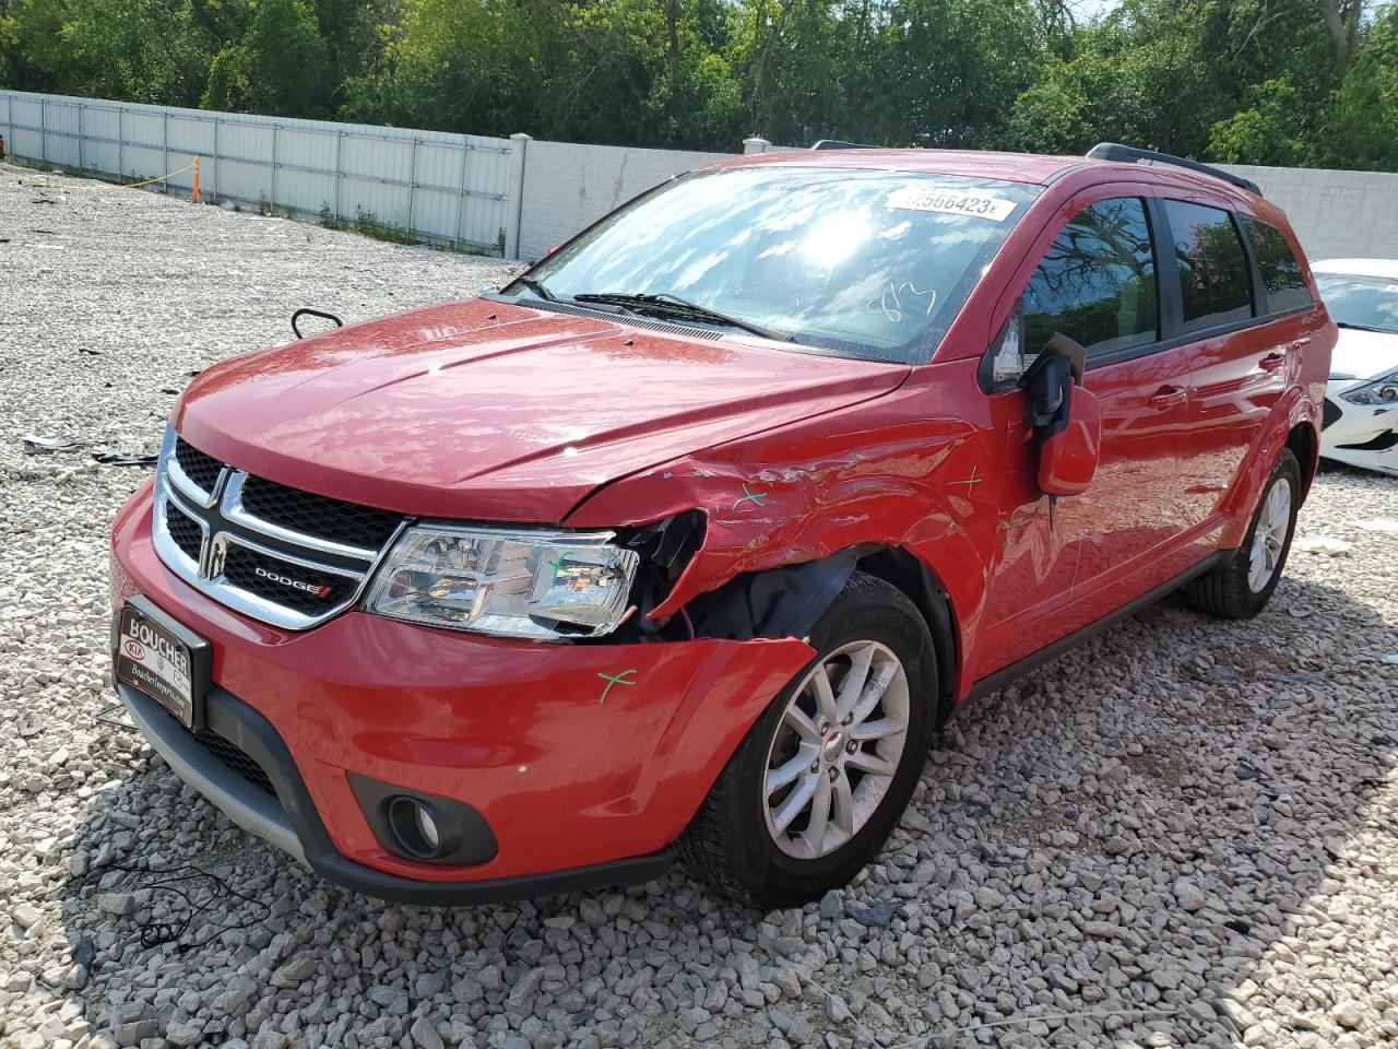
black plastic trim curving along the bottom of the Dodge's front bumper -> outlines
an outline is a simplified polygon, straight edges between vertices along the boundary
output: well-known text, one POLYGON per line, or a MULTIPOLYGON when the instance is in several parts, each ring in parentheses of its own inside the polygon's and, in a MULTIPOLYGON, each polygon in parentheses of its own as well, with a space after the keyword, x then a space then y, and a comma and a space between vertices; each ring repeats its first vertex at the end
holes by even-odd
MULTIPOLYGON (((150 699, 143 692, 136 690, 127 691, 134 695, 136 702, 148 702, 164 712, 164 708, 159 708, 154 699, 150 699)), ((123 698, 127 702, 133 702, 131 697, 123 698)), ((306 789, 306 783, 296 769, 296 762, 292 759, 291 751, 271 722, 236 695, 218 685, 214 685, 208 691, 206 716, 210 729, 240 747, 253 761, 261 765, 267 778, 271 779, 273 786, 277 789, 281 810, 295 831, 295 836, 301 842, 302 856, 310 869, 327 881, 333 881, 355 892, 362 892, 366 897, 396 904, 421 904, 426 906, 500 904, 510 899, 547 897, 577 890, 639 885, 660 877, 675 862, 674 849, 667 848, 649 856, 632 856, 587 867, 475 881, 424 881, 375 870, 362 863, 355 863, 334 848, 330 834, 326 831, 326 825, 322 822, 320 814, 310 800, 310 792, 306 789)), ((193 754, 190 748, 193 748, 199 755, 204 755, 207 761, 217 761, 207 755, 207 751, 180 725, 173 719, 166 720, 172 732, 189 737, 189 747, 183 745, 183 740, 171 738, 166 738, 166 745, 178 747, 182 757, 186 758, 190 758, 193 754)), ((187 764, 194 765, 196 771, 203 773, 199 759, 189 759, 187 764)), ((228 775, 233 773, 229 772, 228 775)), ((192 780, 190 786, 200 790, 199 782, 192 780)))

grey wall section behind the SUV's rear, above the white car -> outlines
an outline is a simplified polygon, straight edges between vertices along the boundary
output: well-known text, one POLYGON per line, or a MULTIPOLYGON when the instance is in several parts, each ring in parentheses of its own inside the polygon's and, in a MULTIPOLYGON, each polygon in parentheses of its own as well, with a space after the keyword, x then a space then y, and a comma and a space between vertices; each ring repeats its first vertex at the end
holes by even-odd
POLYGON ((1253 179, 1320 259, 1398 259, 1398 175, 1220 165, 1253 179))

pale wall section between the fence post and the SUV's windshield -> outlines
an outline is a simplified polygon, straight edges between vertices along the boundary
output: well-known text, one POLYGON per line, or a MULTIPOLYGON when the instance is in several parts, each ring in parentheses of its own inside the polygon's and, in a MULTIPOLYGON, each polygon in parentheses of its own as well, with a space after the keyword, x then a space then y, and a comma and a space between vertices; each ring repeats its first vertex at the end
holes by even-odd
POLYGON ((728 155, 530 140, 524 150, 520 257, 537 259, 637 193, 728 155))

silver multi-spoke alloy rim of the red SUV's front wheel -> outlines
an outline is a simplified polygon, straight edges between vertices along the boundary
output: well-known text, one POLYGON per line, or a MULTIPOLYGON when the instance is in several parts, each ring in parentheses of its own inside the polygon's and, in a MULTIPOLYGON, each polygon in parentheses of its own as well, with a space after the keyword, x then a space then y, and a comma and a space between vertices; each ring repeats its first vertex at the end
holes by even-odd
POLYGON ((768 750, 763 811, 788 856, 826 856, 860 832, 898 772, 909 725, 907 671, 856 641, 801 680, 768 750))

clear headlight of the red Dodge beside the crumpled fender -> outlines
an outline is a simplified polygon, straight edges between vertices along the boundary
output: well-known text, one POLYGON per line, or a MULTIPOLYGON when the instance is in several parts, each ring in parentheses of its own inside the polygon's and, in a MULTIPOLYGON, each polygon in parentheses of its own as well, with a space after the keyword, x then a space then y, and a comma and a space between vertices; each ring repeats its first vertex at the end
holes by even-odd
POLYGON ((419 524, 403 533, 365 608, 428 627, 548 641, 617 629, 640 555, 611 531, 419 524))

